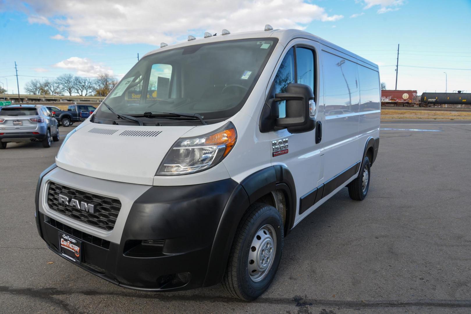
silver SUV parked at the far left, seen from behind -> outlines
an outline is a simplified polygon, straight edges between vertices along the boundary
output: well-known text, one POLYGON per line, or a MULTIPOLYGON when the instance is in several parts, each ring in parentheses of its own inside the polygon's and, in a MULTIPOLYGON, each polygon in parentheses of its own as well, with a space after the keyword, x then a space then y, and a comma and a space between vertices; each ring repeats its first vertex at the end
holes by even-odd
POLYGON ((57 120, 42 105, 10 105, 0 107, 0 149, 7 143, 39 141, 51 147, 59 140, 57 120), (51 139, 52 138, 52 139, 51 139))

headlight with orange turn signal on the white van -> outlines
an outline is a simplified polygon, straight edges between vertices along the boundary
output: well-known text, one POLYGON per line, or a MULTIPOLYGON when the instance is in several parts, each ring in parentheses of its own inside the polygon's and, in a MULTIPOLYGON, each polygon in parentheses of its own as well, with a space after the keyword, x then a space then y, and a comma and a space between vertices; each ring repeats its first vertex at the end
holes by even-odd
POLYGON ((157 175, 184 175, 214 167, 231 151, 236 139, 231 122, 202 136, 180 138, 163 159, 157 175))

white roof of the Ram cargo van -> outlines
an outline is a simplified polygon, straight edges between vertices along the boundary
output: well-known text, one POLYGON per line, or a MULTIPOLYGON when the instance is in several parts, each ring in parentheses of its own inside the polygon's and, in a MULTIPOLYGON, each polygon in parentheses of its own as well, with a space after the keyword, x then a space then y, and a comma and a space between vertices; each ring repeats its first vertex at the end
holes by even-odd
MULTIPOLYGON (((283 46, 286 46, 288 42, 295 38, 305 38, 309 40, 314 40, 317 41, 325 46, 328 46, 330 48, 333 48, 335 50, 338 50, 346 55, 349 55, 353 58, 356 58, 360 61, 363 61, 367 64, 370 64, 374 66, 376 69, 378 69, 378 65, 374 64, 373 62, 358 56, 344 48, 341 48, 325 39, 322 39, 316 35, 313 35, 309 32, 305 31, 300 31, 296 29, 287 29, 287 30, 271 30, 271 31, 253 31, 253 32, 237 32, 237 33, 230 33, 227 35, 217 35, 217 36, 212 36, 212 37, 207 37, 207 38, 198 38, 196 40, 189 40, 189 41, 184 41, 180 42, 177 44, 165 46, 162 48, 157 48, 154 49, 148 53, 146 53, 145 56, 152 55, 154 53, 160 52, 160 51, 165 51, 173 48, 181 48, 181 47, 187 47, 187 46, 192 46, 192 45, 198 45, 198 44, 203 44, 203 43, 209 43, 209 42, 217 42, 217 41, 224 41, 224 40, 237 40, 237 39, 250 39, 250 38, 277 38, 278 43, 281 43, 283 46)), ((144 57, 145 57, 144 56, 144 57)))

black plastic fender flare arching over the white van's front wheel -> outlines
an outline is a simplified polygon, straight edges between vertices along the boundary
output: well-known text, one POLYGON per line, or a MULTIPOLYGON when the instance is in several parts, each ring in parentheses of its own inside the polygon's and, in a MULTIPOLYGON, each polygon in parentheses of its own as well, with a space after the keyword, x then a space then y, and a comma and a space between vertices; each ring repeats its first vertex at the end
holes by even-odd
POLYGON ((235 232, 245 211, 260 197, 275 190, 285 194, 285 235, 292 228, 296 215, 296 189, 289 169, 284 165, 274 165, 252 173, 235 187, 227 200, 214 236, 203 287, 222 281, 235 232))

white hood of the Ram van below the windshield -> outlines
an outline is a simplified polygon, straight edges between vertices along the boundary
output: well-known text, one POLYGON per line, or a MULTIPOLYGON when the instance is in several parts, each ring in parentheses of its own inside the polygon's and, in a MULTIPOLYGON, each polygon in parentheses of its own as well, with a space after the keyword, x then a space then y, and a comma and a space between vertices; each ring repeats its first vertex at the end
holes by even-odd
POLYGON ((56 164, 89 177, 152 185, 171 146, 193 128, 89 122, 77 127, 67 139, 57 153, 56 164))

